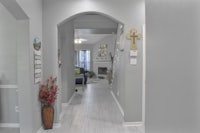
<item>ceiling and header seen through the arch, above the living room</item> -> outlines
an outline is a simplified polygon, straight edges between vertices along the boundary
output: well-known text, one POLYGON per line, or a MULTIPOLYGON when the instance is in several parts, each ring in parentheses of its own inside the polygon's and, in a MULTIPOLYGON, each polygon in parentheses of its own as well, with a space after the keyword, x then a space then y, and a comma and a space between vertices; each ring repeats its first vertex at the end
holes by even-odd
POLYGON ((82 44, 96 44, 103 38, 117 33, 118 23, 102 15, 89 14, 74 20, 75 39, 85 39, 82 44))

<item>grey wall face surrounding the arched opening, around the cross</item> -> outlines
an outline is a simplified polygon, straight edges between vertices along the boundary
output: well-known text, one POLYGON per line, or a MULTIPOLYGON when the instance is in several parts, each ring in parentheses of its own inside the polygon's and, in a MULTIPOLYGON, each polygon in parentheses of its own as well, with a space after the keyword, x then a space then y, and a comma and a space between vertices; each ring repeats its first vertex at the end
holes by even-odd
MULTIPOLYGON (((144 1, 130 1, 130 2, 121 2, 116 1, 116 4, 113 2, 101 2, 97 1, 81 1, 81 2, 71 2, 67 1, 62 2, 44 2, 44 40, 43 45, 44 49, 44 78, 48 77, 49 74, 54 74, 58 76, 58 72, 61 70, 58 68, 58 62, 51 60, 57 60, 57 51, 59 42, 59 25, 64 22, 73 19, 72 16, 76 16, 88 13, 88 12, 97 12, 102 14, 107 14, 108 16, 116 18, 123 22, 124 32, 122 36, 126 36, 132 28, 136 28, 139 33, 142 33, 142 25, 145 23, 145 10, 144 10, 144 1), (101 4, 100 4, 101 3, 101 4), (128 7, 127 7, 128 5, 128 7), (119 9, 125 9, 123 11, 119 9), (55 16, 55 19, 52 17, 55 16), (67 18, 67 19, 66 19, 67 18)), ((106 15, 106 16, 107 16, 106 15)), ((114 19, 115 20, 115 19, 114 19)), ((72 31, 74 32, 74 31, 72 31)), ((73 38, 73 36, 70 36, 73 38)), ((72 39, 71 42, 74 40, 72 39)), ((142 121, 142 39, 137 41, 138 45, 138 62, 136 65, 130 64, 130 40, 126 38, 124 41, 120 42, 120 46, 124 46, 124 51, 119 52, 119 71, 117 71, 118 77, 117 80, 117 89, 114 91, 116 99, 120 101, 120 105, 124 111, 124 121, 125 122, 141 122, 142 121), (119 91, 118 91, 119 90, 119 91)), ((120 49, 121 50, 121 49, 120 49)), ((73 63, 73 57, 71 62, 73 63)), ((62 66, 61 66, 62 67, 62 66)), ((73 65, 71 66, 73 68, 73 65)), ((71 71, 74 71, 71 69, 71 71)), ((60 72, 61 73, 61 72, 60 72)), ((59 77, 59 76, 58 76, 59 77)), ((113 83, 114 85, 114 83, 113 83)), ((61 88, 62 89, 62 88, 61 88)), ((69 93, 68 93, 69 94, 69 93)), ((70 94, 72 95, 72 94, 70 94)), ((58 97, 58 107, 56 110, 58 113, 61 113, 61 93, 58 97)), ((56 121, 59 123, 59 116, 56 116, 56 121)))

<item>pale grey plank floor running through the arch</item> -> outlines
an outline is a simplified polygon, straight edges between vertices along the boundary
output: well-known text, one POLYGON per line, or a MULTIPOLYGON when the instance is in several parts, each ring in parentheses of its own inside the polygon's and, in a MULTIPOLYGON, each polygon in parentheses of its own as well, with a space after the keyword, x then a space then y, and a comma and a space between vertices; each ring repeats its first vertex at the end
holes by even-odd
POLYGON ((123 117, 106 80, 87 84, 76 92, 64 115, 60 128, 43 133, 142 133, 141 127, 123 126, 123 117))

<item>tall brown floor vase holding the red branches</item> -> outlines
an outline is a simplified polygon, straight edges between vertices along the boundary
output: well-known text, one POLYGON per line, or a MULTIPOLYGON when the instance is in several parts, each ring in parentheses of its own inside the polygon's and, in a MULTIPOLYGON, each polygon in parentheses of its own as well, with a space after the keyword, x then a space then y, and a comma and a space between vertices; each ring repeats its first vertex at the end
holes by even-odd
POLYGON ((52 106, 42 106, 42 123, 45 130, 53 128, 54 108, 52 106))

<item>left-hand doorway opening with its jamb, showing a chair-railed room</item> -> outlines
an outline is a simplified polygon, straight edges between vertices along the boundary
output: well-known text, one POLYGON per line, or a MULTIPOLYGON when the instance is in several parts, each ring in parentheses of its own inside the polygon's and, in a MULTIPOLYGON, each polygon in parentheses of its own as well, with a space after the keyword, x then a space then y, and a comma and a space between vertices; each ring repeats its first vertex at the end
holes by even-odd
POLYGON ((1 1, 0 132, 24 133, 32 129, 32 87, 29 18, 14 1, 1 1), (15 7, 11 10, 9 7, 15 7), (11 69, 11 70, 10 70, 11 69), (1 89, 6 89, 1 92, 1 89), (26 100, 24 100, 26 99, 26 100))

